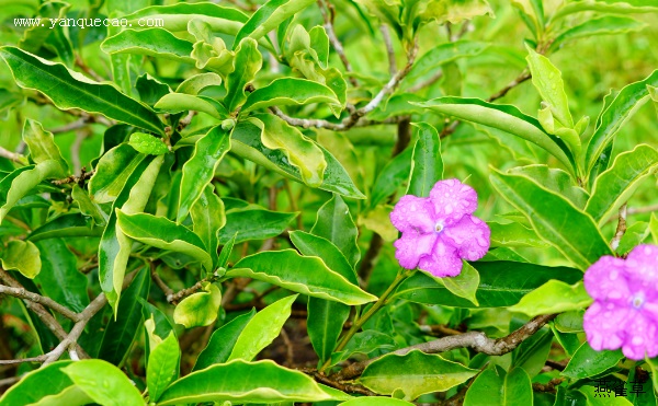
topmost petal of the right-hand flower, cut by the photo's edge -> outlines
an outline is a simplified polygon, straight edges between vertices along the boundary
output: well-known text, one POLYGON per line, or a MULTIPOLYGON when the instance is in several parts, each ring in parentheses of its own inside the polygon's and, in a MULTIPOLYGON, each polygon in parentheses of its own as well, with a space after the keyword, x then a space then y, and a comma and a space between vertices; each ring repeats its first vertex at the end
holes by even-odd
POLYGON ((644 291, 647 299, 658 299, 658 246, 638 245, 626 258, 631 289, 644 291))

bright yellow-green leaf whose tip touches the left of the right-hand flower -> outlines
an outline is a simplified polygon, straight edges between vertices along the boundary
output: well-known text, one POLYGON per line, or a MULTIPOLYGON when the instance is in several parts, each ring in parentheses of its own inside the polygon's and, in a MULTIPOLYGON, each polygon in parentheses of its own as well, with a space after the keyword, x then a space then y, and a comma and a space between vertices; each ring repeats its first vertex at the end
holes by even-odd
POLYGON ((508 310, 534 317, 540 314, 582 310, 591 303, 592 299, 587 294, 582 282, 569 286, 559 280, 549 280, 508 310))

